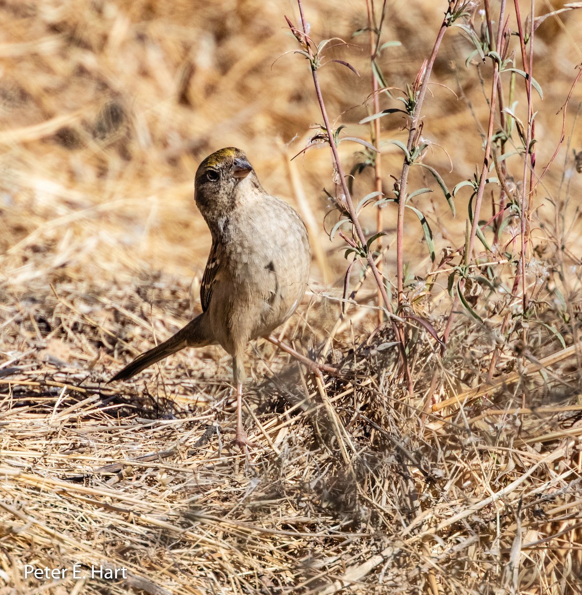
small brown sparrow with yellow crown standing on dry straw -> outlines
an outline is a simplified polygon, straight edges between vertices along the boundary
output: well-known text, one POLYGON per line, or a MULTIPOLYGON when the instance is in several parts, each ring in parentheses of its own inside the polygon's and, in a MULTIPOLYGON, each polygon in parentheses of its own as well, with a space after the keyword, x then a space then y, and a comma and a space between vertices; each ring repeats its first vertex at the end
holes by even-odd
POLYGON ((305 293, 311 250, 301 217, 265 192, 240 149, 220 149, 202 161, 195 199, 212 234, 200 288, 202 314, 110 382, 130 378, 184 347, 219 343, 233 358, 235 441, 242 447, 248 444, 241 411, 245 347, 295 312, 305 293))

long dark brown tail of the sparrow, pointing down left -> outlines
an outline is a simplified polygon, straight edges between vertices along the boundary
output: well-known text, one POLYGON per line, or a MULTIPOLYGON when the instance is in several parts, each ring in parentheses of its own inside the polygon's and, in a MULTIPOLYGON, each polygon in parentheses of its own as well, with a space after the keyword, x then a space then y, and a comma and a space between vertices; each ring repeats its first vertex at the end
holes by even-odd
POLYGON ((160 343, 157 347, 137 356, 131 364, 126 365, 125 368, 117 372, 117 374, 108 381, 108 384, 115 380, 126 380, 126 378, 131 378, 148 366, 155 364, 155 362, 159 362, 160 359, 164 359, 172 353, 180 351, 180 349, 184 349, 184 347, 204 347, 210 343, 212 343, 212 341, 208 338, 205 316, 204 314, 201 314, 190 321, 176 334, 171 336, 170 339, 164 341, 164 343, 160 343))

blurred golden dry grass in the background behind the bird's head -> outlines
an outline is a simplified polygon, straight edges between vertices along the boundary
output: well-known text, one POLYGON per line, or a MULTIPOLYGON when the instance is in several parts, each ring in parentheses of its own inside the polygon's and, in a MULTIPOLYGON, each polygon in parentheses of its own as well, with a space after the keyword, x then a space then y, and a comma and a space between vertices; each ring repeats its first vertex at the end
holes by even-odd
MULTIPOLYGON (((527 3, 522 4, 526 14, 527 3)), ((539 10, 561 4, 540 2, 539 10)), ((384 37, 402 42, 383 54, 390 86, 403 88, 414 80, 445 8, 439 2, 389 2, 384 37)), ((317 132, 309 127, 321 115, 308 64, 299 55, 283 55, 296 47, 283 19, 287 14, 297 21, 293 2, 8 0, 0 14, 0 275, 5 289, 46 288, 54 275, 97 284, 130 283, 139 271, 199 275, 210 239, 193 204, 193 173, 205 155, 222 146, 245 150, 265 188, 296 204, 285 162, 317 132)), ((357 124, 368 113, 367 35, 351 39, 365 27, 365 4, 320 0, 306 4, 306 14, 316 39, 339 36, 354 44, 332 50, 330 57, 351 62, 361 78, 339 64, 323 68, 320 76, 336 125, 348 124, 349 134, 368 138, 367 126, 357 124)), ((543 102, 536 98, 540 165, 559 140, 562 115, 556 112, 582 60, 581 24, 581 14, 571 11, 549 18, 536 32, 535 76, 545 92, 543 102)), ((450 184, 473 175, 488 115, 488 92, 464 64, 469 52, 461 33, 451 30, 425 104, 423 135, 435 143, 426 161, 450 184)), ((487 74, 489 65, 483 68, 487 74)), ((521 80, 517 87, 520 92, 521 80)), ((574 147, 582 144, 579 133, 572 132, 577 96, 566 128, 574 147)), ((394 105, 382 96, 382 108, 394 105)), ((402 139, 398 115, 381 122, 384 140, 402 139)), ((348 167, 358 148, 340 146, 348 167)), ((566 151, 561 149, 540 195, 555 199, 562 174, 574 171, 571 160, 562 167, 566 151)), ((389 193, 389 174, 398 175, 402 155, 394 145, 384 145, 383 152, 389 193)), ((325 148, 310 149, 293 164, 321 221, 329 208, 322 189, 333 193, 330 155, 325 148)), ((519 159, 515 167, 521 176, 519 159)), ((418 176, 419 186, 434 186, 418 176)), ((577 176, 569 183, 574 195, 580 193, 577 176)), ((359 178, 356 198, 371 192, 371 186, 371 176, 359 178)), ((466 203, 458 199, 457 223, 442 198, 426 196, 421 204, 433 222, 437 250, 462 244, 466 203)), ((389 231, 395 211, 395 206, 386 209, 389 231)), ((405 261, 414 263, 426 251, 414 215, 409 221, 405 261)), ((577 224, 574 232, 579 231, 577 224)), ((313 240, 328 253, 330 279, 337 281, 345 270, 337 244, 328 242, 323 226, 313 240)), ((393 262, 390 252, 387 258, 393 262)), ((317 268, 313 277, 321 278, 317 268)))

